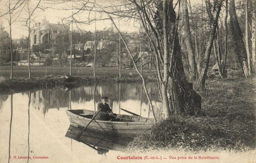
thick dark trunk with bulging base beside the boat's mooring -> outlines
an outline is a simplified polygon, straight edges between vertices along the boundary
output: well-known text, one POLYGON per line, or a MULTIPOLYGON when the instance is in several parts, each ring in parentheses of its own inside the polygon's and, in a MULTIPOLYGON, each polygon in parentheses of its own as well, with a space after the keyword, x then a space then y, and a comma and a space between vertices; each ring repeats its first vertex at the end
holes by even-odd
MULTIPOLYGON (((171 4, 172 5, 172 4, 171 4)), ((175 114, 186 113, 188 115, 201 115, 201 97, 193 90, 193 84, 187 81, 182 64, 180 41, 178 37, 178 23, 176 23, 176 13, 173 6, 169 6, 170 34, 172 38, 170 78, 171 91, 169 97, 172 99, 172 111, 175 114)))

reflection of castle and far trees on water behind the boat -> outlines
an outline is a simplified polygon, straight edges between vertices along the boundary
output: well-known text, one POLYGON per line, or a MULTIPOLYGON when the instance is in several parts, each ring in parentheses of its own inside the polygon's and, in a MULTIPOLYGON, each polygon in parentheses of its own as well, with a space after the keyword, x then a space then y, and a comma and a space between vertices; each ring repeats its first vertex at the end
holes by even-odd
MULTIPOLYGON (((155 84, 149 83, 150 92, 155 92, 155 84)), ((68 90, 67 88, 39 90, 32 95, 32 106, 43 110, 45 115, 49 109, 89 109, 96 110, 102 95, 108 96, 108 104, 116 113, 126 114, 120 108, 148 117, 148 100, 140 83, 112 83, 108 85, 81 86, 68 90), (72 107, 71 108, 71 103, 72 107)), ((153 99, 158 99, 157 93, 153 99)))

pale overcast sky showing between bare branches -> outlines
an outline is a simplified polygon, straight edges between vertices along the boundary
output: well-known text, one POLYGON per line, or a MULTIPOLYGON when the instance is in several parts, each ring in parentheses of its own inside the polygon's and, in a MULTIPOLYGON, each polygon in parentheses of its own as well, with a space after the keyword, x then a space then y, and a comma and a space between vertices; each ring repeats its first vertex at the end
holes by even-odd
MULTIPOLYGON (((45 0, 42 0, 41 1, 41 5, 42 6, 51 6, 52 8, 54 9, 45 9, 45 10, 41 10, 41 9, 36 9, 36 12, 35 12, 35 15, 36 15, 36 18, 35 18, 35 21, 36 22, 41 22, 42 23, 42 19, 44 19, 44 17, 46 17, 46 19, 49 20, 49 23, 55 23, 57 24, 57 22, 60 22, 61 23, 61 20, 63 18, 67 18, 68 16, 70 16, 72 14, 72 10, 63 10, 63 9, 70 9, 72 8, 72 3, 70 4, 58 4, 58 5, 51 5, 51 4, 45 4, 45 0), (58 10, 60 9, 60 10, 58 10)), ((51 2, 51 1, 50 1, 51 2)), ((1 6, 4 6, 3 3, 4 3, 4 0, 1 1, 1 6)), ((35 8, 36 4, 38 3, 38 0, 30 0, 29 1, 30 3, 30 8, 33 9, 35 8)), ((119 1, 118 0, 108 0, 107 2, 106 1, 103 1, 103 0, 96 0, 96 3, 98 4, 118 4, 119 1)), ((196 3, 202 3, 202 0, 191 0, 191 4, 196 4, 196 3)), ((79 3, 77 4, 77 2, 74 2, 73 3, 74 6, 76 5, 80 5, 79 3)), ((82 5, 82 3, 81 3, 82 5)), ((4 7, 6 10, 7 8, 4 7)), ((24 7, 23 10, 25 10, 26 7, 24 7)), ((0 11, 1 12, 1 11, 0 11)), ((4 12, 4 10, 2 10, 2 12, 4 12)), ((76 10, 73 10, 73 12, 76 12, 76 10)), ((20 14, 20 17, 24 17, 22 15, 26 14, 25 12, 22 12, 20 14)), ((88 14, 89 12, 88 11, 84 11, 82 14, 79 15, 79 18, 78 16, 76 16, 76 19, 88 19, 88 14)), ((94 17, 94 12, 92 13, 91 12, 91 16, 92 18, 94 17)), ((97 18, 103 18, 104 15, 100 15, 99 13, 96 13, 96 19, 97 18)), ((6 31, 9 33, 9 26, 8 26, 8 23, 6 21, 6 19, 4 18, 0 18, 0 21, 3 22, 4 26, 6 27, 6 31)), ((116 24, 118 25, 118 20, 115 20, 116 24)), ((121 31, 139 31, 139 24, 134 22, 133 20, 130 20, 130 21, 127 21, 127 19, 125 20, 120 20, 120 29, 121 31)), ((32 26, 33 26, 34 23, 32 23, 32 26)), ((91 23, 90 25, 85 25, 85 24, 77 24, 79 26, 80 29, 82 30, 85 30, 85 31, 91 31, 91 32, 94 32, 95 30, 95 24, 94 22, 91 23)), ((101 20, 101 21, 96 21, 96 27, 97 27, 97 30, 103 30, 103 28, 109 28, 111 27, 111 20, 101 20)), ((73 29, 77 29, 76 28, 76 25, 74 24, 73 25, 73 29)), ((16 38, 20 38, 22 37, 22 35, 24 36, 27 36, 28 35, 28 31, 26 30, 26 27, 24 26, 24 23, 20 22, 20 19, 17 19, 16 22, 14 24, 12 24, 12 38, 13 39, 16 39, 16 38)))

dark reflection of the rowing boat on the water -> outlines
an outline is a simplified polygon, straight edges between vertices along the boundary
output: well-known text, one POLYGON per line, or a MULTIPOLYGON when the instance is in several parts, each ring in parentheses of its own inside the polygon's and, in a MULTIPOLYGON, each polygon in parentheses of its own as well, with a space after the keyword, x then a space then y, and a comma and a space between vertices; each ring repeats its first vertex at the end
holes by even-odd
MULTIPOLYGON (((70 125, 66 133, 66 137, 74 139, 76 135, 82 130, 83 128, 70 125)), ((75 140, 92 147, 93 149, 97 150, 99 154, 102 154, 100 152, 106 153, 108 152, 108 150, 125 152, 127 151, 127 145, 133 139, 129 137, 118 137, 108 134, 102 134, 91 130, 84 130, 81 137, 75 140)))

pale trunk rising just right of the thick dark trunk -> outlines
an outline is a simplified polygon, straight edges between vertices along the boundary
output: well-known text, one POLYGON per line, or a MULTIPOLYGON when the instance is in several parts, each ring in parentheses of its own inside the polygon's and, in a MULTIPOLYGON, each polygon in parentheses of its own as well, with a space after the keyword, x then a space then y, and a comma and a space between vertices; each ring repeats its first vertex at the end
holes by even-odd
POLYGON ((185 44, 188 52, 188 65, 189 65, 189 76, 188 80, 194 82, 196 79, 196 60, 195 60, 195 50, 192 46, 189 16, 188 16, 188 5, 187 0, 181 0, 182 3, 182 14, 184 18, 184 34, 185 34, 185 44))

